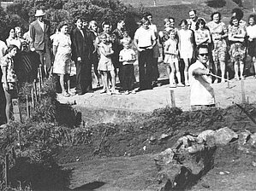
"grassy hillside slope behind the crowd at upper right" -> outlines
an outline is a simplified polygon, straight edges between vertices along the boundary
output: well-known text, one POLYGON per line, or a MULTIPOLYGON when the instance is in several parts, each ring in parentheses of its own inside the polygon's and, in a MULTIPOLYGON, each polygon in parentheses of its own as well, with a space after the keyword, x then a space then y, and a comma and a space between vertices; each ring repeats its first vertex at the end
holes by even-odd
MULTIPOLYGON (((122 0, 123 3, 129 2, 133 6, 136 6, 135 0, 122 0)), ((166 17, 172 16, 176 19, 176 26, 178 26, 179 22, 182 19, 188 18, 188 11, 190 9, 195 9, 198 12, 199 17, 205 18, 206 21, 211 20, 211 13, 215 11, 219 11, 222 14, 222 20, 226 24, 229 23, 230 16, 231 16, 231 10, 234 8, 238 8, 237 4, 234 3, 232 0, 226 0, 225 6, 223 8, 211 8, 207 6, 206 0, 193 0, 193 1, 168 1, 168 0, 162 0, 157 1, 157 5, 159 4, 165 4, 164 6, 146 6, 153 1, 143 1, 140 0, 140 2, 143 4, 142 10, 143 12, 149 11, 153 15, 153 22, 158 26, 158 30, 162 30, 164 27, 163 20, 166 17), (168 5, 169 4, 169 5, 168 5)), ((140 8, 141 9, 141 8, 140 8)), ((253 13, 253 1, 248 0, 244 1, 244 8, 241 8, 244 11, 244 20, 247 20, 248 15, 253 13)))

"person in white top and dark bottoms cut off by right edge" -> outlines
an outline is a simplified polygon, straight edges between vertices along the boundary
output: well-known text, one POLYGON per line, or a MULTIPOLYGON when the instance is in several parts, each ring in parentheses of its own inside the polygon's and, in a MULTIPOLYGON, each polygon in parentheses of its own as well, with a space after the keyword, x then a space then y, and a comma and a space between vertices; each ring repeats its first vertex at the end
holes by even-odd
POLYGON ((254 78, 256 78, 256 16, 251 14, 248 19, 247 37, 248 37, 248 55, 252 57, 254 67, 254 78))

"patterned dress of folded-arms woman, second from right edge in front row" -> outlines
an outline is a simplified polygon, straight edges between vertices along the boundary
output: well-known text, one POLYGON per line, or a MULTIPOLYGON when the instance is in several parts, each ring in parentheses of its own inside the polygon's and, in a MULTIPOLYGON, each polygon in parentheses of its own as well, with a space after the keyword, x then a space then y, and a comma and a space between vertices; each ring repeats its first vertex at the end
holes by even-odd
MULTIPOLYGON (((229 34, 231 36, 241 35, 242 32, 245 32, 244 26, 229 26, 229 34)), ((245 43, 241 42, 230 42, 229 55, 231 61, 242 61, 246 54, 245 43)))

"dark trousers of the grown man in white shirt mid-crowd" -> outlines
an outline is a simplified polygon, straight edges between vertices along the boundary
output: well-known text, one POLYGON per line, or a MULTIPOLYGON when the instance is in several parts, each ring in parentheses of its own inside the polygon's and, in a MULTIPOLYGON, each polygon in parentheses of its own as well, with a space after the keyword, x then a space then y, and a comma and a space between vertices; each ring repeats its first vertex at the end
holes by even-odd
POLYGON ((152 49, 146 49, 139 53, 140 90, 152 89, 152 60, 152 49))

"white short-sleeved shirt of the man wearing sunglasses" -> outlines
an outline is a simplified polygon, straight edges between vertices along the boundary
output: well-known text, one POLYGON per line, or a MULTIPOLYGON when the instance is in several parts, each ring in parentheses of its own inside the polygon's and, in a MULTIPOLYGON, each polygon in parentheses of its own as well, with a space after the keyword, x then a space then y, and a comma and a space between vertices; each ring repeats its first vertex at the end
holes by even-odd
POLYGON ((191 106, 209 106, 215 104, 214 91, 211 87, 211 77, 207 75, 193 75, 197 68, 206 69, 200 62, 194 62, 188 68, 188 78, 190 83, 190 105, 191 106))

